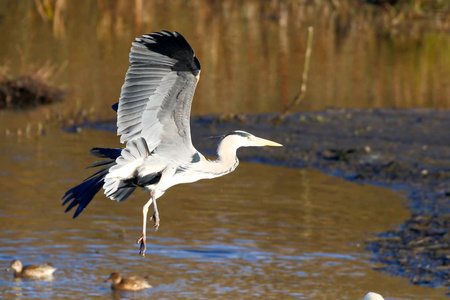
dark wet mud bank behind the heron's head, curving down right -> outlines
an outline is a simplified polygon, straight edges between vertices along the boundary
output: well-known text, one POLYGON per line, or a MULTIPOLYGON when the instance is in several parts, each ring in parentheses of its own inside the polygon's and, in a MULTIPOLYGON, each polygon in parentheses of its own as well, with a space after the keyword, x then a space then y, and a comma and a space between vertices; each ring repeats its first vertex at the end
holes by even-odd
MULTIPOLYGON (((370 238, 367 249, 385 270, 414 284, 450 284, 450 111, 329 109, 292 114, 277 126, 273 117, 194 117, 193 142, 214 154, 217 139, 207 137, 242 129, 285 145, 241 149, 242 160, 314 168, 406 190, 410 219, 370 238)), ((91 126, 115 130, 114 122, 91 126)))

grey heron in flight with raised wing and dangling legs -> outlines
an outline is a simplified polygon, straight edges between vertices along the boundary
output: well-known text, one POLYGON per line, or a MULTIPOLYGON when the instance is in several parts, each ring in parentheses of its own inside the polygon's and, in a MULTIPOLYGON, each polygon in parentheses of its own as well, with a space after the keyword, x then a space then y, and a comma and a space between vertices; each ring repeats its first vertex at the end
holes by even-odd
POLYGON ((106 197, 124 201, 137 188, 150 193, 142 208, 142 236, 139 254, 146 250, 147 213, 159 227, 156 199, 180 183, 210 179, 232 172, 239 160, 236 150, 249 146, 282 146, 236 130, 224 135, 217 160, 206 159, 192 145, 190 111, 200 77, 200 62, 191 46, 178 32, 154 32, 136 38, 130 52, 117 111, 117 135, 125 148, 93 148, 95 157, 104 158, 91 167, 100 167, 63 197, 66 212, 78 206, 76 218, 103 187, 106 197))

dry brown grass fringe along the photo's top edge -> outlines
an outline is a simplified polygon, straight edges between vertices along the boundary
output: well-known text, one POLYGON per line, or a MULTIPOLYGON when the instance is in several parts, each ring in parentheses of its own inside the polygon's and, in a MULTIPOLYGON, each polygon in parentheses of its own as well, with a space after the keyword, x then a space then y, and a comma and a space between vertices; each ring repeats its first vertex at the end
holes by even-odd
MULTIPOLYGON (((52 24, 55 36, 66 34, 66 22, 69 18, 67 0, 34 0, 35 11, 46 22, 52 24)), ((145 28, 154 22, 152 8, 157 5, 175 7, 185 5, 183 1, 161 0, 97 0, 92 7, 100 12, 99 28, 104 34, 123 34, 125 24, 133 23, 136 28, 145 28)), ((194 0, 192 7, 208 12, 217 8, 232 8, 239 3, 232 0, 194 0)), ((253 1, 249 1, 253 2, 253 1)), ((259 2, 259 1, 258 1, 259 2)), ((270 18, 283 18, 282 7, 295 10, 298 7, 310 7, 314 10, 331 9, 338 18, 347 19, 364 14, 367 23, 376 22, 382 31, 407 32, 410 26, 418 26, 420 30, 450 30, 450 1, 448 0, 273 0, 260 1, 258 12, 270 18), (389 3, 395 3, 390 5, 389 3)), ((187 5, 186 6, 190 6, 187 5)), ((306 16, 305 16, 306 17, 306 16)))

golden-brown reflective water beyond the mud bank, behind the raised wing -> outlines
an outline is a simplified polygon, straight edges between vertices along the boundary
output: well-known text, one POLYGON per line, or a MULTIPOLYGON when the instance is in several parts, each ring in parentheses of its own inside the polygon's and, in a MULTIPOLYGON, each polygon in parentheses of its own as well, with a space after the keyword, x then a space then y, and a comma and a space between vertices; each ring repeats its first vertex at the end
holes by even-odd
POLYGON ((68 103, 47 117, 85 110, 112 118, 105 108, 118 99, 131 41, 177 30, 202 62, 195 114, 271 112, 299 91, 314 26, 308 93, 298 109, 450 107, 450 25, 441 14, 395 16, 339 3, 3 1, 0 34, 9 42, 0 60, 17 73, 67 64, 55 81, 70 91, 68 103))

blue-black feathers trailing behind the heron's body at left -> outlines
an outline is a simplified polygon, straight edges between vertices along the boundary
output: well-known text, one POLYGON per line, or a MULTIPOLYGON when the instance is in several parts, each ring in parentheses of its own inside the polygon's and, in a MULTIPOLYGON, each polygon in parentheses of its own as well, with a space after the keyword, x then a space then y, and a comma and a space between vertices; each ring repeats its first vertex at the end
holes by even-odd
MULTIPOLYGON (((101 167, 97 172, 86 178, 79 185, 71 188, 66 192, 62 198, 63 204, 67 206, 65 212, 68 212, 73 207, 77 206, 73 218, 76 218, 88 204, 92 201, 95 194, 103 187, 105 182, 105 176, 108 174, 109 169, 116 165, 116 158, 120 156, 122 149, 110 149, 110 148, 93 148, 91 154, 95 157, 106 158, 105 160, 93 163, 90 168, 101 167)), ((127 187, 127 194, 131 194, 135 187, 127 187)), ((125 191, 122 191, 125 192, 125 191)))

